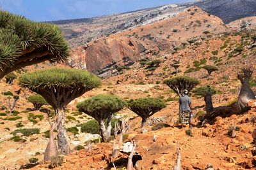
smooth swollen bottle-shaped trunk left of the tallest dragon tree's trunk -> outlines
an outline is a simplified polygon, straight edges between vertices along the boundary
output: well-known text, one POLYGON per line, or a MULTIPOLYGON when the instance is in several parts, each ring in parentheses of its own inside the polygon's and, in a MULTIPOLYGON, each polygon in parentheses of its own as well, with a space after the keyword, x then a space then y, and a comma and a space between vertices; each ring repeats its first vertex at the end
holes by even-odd
POLYGON ((51 125, 51 131, 49 132, 50 138, 44 153, 44 161, 51 160, 51 157, 58 155, 58 148, 54 141, 53 132, 54 132, 54 126, 51 125))

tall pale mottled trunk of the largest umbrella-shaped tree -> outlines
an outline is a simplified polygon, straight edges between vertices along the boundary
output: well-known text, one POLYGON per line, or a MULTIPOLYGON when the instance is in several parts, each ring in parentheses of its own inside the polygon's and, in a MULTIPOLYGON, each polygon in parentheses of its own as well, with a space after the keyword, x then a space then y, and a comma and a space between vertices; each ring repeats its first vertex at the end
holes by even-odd
POLYGON ((71 150, 69 148, 69 143, 68 143, 67 129, 65 128, 65 120, 64 120, 64 118, 65 118, 65 109, 57 109, 56 113, 58 115, 57 122, 61 121, 61 123, 58 124, 58 126, 57 126, 58 149, 60 150, 61 154, 67 155, 68 153, 71 152, 71 150))

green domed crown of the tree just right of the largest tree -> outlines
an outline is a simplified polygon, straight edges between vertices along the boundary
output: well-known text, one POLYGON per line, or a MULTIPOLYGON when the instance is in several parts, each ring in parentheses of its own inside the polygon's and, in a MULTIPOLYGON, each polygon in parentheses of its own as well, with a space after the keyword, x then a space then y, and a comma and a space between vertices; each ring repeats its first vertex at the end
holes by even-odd
POLYGON ((114 113, 122 110, 124 105, 124 101, 117 96, 100 94, 78 103, 77 108, 100 122, 111 118, 114 113))

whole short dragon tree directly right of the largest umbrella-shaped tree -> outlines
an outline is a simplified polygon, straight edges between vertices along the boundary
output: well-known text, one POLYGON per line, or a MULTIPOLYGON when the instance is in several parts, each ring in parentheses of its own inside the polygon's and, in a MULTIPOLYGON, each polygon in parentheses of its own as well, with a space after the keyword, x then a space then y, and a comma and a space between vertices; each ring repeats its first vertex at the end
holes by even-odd
POLYGON ((99 122, 100 136, 105 142, 111 134, 111 119, 124 108, 124 101, 117 96, 100 94, 78 103, 77 108, 99 122))

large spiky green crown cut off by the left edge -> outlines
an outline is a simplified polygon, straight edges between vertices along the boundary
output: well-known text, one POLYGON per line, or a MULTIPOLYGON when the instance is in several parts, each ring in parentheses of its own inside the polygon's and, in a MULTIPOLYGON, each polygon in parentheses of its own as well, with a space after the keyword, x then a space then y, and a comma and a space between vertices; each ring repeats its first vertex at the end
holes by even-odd
POLYGON ((68 55, 68 43, 56 25, 0 11, 0 78, 45 60, 63 62, 68 55))

